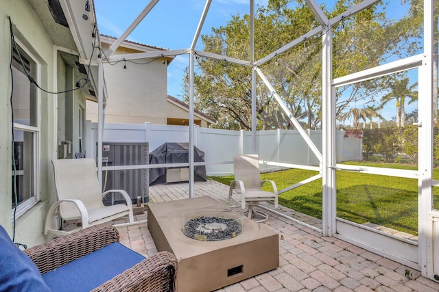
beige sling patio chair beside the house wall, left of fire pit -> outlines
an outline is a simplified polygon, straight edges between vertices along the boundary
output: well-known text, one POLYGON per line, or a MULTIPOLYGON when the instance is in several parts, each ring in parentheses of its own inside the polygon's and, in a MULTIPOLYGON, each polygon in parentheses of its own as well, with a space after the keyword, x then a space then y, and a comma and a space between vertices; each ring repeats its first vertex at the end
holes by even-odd
POLYGON ((124 217, 134 222, 130 196, 122 189, 102 193, 97 179, 95 159, 57 159, 54 165, 58 202, 47 212, 44 233, 66 235, 69 232, 53 229, 59 215, 63 220, 81 220, 82 228, 124 217), (108 193, 120 193, 126 204, 105 206, 102 198, 108 193), (128 215, 128 218, 126 217, 128 215))

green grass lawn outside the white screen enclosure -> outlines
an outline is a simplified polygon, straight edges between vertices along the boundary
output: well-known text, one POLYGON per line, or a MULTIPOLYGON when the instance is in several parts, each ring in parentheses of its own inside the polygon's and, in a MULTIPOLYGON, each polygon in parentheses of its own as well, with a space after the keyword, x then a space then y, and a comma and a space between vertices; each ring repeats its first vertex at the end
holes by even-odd
MULTIPOLYGON (((381 168, 416 170, 411 165, 390 163, 348 163, 381 168)), ((261 174, 262 179, 274 181, 279 190, 314 176, 310 170, 283 170, 261 174)), ((439 177, 439 169, 434 170, 439 177)), ((230 185, 233 176, 213 177, 230 185)), ((264 189, 270 190, 265 184, 264 189)), ((434 188, 435 202, 439 200, 439 189, 434 188)), ((279 195, 279 203, 290 209, 313 217, 322 218, 322 179, 303 185, 279 195)), ((337 217, 363 224, 371 222, 396 230, 418 234, 418 180, 361 174, 361 172, 337 171, 337 217)))

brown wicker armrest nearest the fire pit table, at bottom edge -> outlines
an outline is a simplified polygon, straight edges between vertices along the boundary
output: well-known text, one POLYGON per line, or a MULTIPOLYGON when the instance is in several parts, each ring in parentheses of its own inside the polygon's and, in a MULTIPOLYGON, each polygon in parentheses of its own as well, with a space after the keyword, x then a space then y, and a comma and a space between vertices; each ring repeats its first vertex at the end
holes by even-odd
POLYGON ((158 252, 92 290, 99 291, 175 291, 177 258, 158 252))

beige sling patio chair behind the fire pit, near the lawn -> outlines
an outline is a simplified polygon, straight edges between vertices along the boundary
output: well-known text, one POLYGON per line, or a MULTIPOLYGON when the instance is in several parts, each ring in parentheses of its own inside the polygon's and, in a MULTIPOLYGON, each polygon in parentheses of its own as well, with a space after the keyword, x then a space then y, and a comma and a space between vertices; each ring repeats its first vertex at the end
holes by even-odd
POLYGON ((252 212, 257 213, 263 217, 263 222, 268 220, 268 214, 253 209, 254 206, 262 201, 274 201, 274 208, 278 208, 278 194, 277 187, 274 181, 261 181, 261 172, 259 172, 259 157, 258 155, 234 155, 234 172, 235 181, 230 184, 228 191, 228 198, 233 198, 233 189, 237 194, 241 194, 241 200, 236 200, 241 204, 241 209, 246 209, 248 205, 248 217, 252 217, 252 212), (263 191, 262 185, 265 182, 272 184, 273 191, 263 191))

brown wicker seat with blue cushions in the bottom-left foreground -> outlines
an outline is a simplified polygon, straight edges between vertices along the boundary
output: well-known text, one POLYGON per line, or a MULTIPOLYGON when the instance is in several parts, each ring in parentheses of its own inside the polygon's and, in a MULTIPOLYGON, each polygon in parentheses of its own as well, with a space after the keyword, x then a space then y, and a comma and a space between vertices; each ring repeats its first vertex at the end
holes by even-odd
MULTIPOLYGON (((18 250, 18 248, 16 249, 18 250)), ((16 252, 16 250, 13 252, 16 252)), ((153 256, 144 258, 121 245, 117 229, 107 224, 92 226, 77 233, 53 239, 45 244, 28 248, 24 250, 24 253, 29 256, 40 271, 43 284, 49 286, 49 289, 44 291, 50 291, 50 289, 51 291, 80 291, 81 289, 84 291, 84 287, 86 287, 84 283, 86 284, 88 280, 96 282, 96 279, 102 277, 102 274, 105 274, 106 270, 112 269, 112 267, 122 269, 121 273, 116 274, 114 277, 111 274, 110 276, 106 275, 110 277, 109 280, 102 282, 102 284, 99 283, 100 286, 99 284, 93 286, 93 289, 86 288, 85 291, 175 291, 176 287, 177 260, 174 254, 158 252, 153 256), (118 249, 110 250, 111 246, 118 249), (99 256, 95 256, 99 252, 101 252, 100 259, 99 256), (92 256, 91 259, 90 256, 92 256), (93 256, 95 257, 93 258, 93 256), (134 260, 130 260, 131 257, 134 260), (78 261, 86 261, 87 258, 88 262, 82 263, 82 266, 75 265, 78 261), (102 258, 104 258, 103 261, 102 258), (106 262, 107 259, 110 263, 102 263, 106 262), (132 263, 135 264, 131 265, 130 261, 134 261, 132 263), (93 265, 96 267, 92 267, 93 265), (128 265, 130 268, 124 269, 123 265, 128 265), (64 269, 64 274, 55 278, 56 284, 59 284, 60 287, 51 286, 48 283, 50 277, 45 276, 58 271, 62 273, 62 269, 64 269)), ((19 252, 19 256, 12 257, 12 261, 18 262, 15 258, 20 258, 21 254, 19 252)), ((7 261, 7 258, 7 256, 3 257, 2 261, 7 261)), ((28 260, 27 257, 24 261, 26 260, 28 260)), ((11 260, 9 259, 9 261, 11 260)), ((119 273, 117 270, 116 272, 119 273)), ((115 273, 115 271, 112 271, 112 273, 115 273)), ((13 282, 17 281, 18 275, 25 275, 26 273, 15 270, 11 271, 10 274, 16 275, 10 277, 13 282)), ((2 282, 4 282, 4 279, 2 279, 2 282)), ((16 291, 24 291, 25 288, 23 286, 19 287, 20 285, 21 283, 15 283, 11 284, 10 287, 15 287, 16 291)), ((10 287, 6 287, 6 291, 11 291, 10 287)), ((32 291, 36 290, 32 289, 32 291)), ((38 289, 38 291, 42 290, 38 289)))

